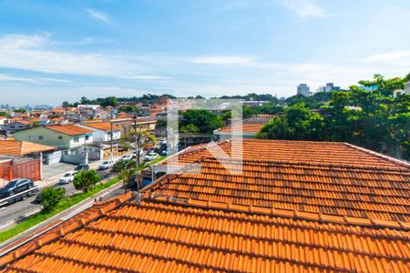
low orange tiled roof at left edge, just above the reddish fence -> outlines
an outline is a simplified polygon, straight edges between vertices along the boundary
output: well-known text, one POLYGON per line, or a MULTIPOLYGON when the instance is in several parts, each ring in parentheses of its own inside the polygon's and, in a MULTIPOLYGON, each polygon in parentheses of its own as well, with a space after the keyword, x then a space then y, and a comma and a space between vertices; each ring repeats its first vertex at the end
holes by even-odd
POLYGON ((56 147, 36 144, 28 141, 0 140, 0 155, 26 156, 56 150, 56 147))

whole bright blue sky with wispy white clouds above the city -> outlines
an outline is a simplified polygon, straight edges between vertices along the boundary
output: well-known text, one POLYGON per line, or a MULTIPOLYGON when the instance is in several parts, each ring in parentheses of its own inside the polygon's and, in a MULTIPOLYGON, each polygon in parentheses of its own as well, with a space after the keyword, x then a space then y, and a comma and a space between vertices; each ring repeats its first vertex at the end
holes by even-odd
POLYGON ((0 104, 405 76, 409 17, 408 0, 0 0, 0 104))

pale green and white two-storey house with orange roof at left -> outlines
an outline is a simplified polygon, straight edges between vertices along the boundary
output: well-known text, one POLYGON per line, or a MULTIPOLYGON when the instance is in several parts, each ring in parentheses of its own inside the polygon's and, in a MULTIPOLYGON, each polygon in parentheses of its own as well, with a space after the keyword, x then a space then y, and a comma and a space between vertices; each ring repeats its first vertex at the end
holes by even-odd
POLYGON ((94 130, 76 125, 36 126, 15 132, 16 140, 30 141, 58 149, 75 149, 93 142, 94 130))

